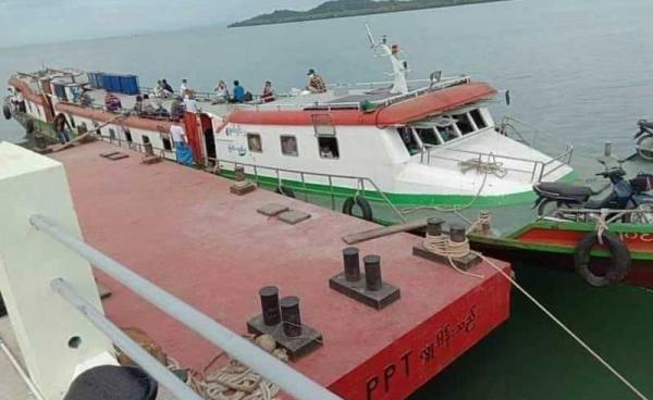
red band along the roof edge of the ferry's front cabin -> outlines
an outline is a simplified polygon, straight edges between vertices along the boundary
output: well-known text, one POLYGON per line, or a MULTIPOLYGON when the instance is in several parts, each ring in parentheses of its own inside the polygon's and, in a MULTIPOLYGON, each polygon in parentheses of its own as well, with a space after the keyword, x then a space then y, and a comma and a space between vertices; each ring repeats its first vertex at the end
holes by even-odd
MULTIPOLYGON (((495 93, 496 90, 485 83, 471 83, 432 91, 374 112, 331 110, 329 114, 334 125, 402 125, 491 98, 495 93)), ((238 109, 229 115, 229 122, 252 125, 312 125, 312 115, 325 112, 324 110, 238 109)))

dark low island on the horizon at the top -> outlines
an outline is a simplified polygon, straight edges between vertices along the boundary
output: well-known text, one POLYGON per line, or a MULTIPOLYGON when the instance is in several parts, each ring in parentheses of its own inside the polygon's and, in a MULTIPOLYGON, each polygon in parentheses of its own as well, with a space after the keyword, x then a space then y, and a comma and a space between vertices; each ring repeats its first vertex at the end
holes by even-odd
POLYGON ((463 4, 489 3, 504 0, 334 0, 326 1, 308 11, 276 10, 270 14, 257 15, 252 18, 229 25, 238 26, 285 24, 291 22, 341 18, 345 16, 381 14, 397 11, 435 9, 463 4))

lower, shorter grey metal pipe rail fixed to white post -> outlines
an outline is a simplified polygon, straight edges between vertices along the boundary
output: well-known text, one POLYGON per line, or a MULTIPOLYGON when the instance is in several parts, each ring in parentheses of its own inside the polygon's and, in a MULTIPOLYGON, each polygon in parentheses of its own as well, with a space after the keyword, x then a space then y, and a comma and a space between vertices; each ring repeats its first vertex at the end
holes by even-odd
POLYGON ((126 353, 136 364, 140 365, 159 384, 165 386, 177 399, 202 400, 189 386, 161 364, 150 353, 145 351, 137 342, 123 333, 118 326, 96 310, 86 299, 79 296, 63 279, 54 279, 50 284, 52 289, 63 297, 72 307, 77 309, 96 328, 107 335, 121 351, 126 353))

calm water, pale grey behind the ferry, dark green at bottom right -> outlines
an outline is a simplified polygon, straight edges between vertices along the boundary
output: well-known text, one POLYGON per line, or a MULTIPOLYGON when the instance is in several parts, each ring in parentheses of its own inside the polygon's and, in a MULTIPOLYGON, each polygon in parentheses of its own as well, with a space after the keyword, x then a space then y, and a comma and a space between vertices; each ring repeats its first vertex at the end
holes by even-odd
MULTIPOLYGON (((510 89, 513 105, 494 107, 575 145, 575 165, 596 170, 605 140, 631 153, 640 117, 653 118, 653 1, 513 1, 244 29, 201 29, 58 46, 0 49, 0 77, 41 64, 134 72, 149 86, 182 77, 198 89, 241 79, 252 91, 301 87, 315 67, 331 83, 385 79, 385 60, 367 50, 366 22, 402 45, 412 77, 468 73, 510 89)), ((0 139, 17 140, 14 123, 0 139)), ((555 145, 555 146, 554 146, 555 145)), ((653 172, 653 164, 637 170, 653 172)), ((596 290, 574 275, 517 265, 521 283, 619 371, 653 396, 653 295, 596 290)), ((629 392, 514 295, 513 317, 415 399, 629 399, 629 392)))

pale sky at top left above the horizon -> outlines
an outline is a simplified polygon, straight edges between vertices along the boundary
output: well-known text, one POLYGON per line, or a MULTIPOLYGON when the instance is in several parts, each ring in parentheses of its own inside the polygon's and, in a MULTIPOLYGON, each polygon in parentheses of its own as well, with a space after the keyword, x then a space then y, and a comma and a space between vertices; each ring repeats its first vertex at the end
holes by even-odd
POLYGON ((0 0, 0 47, 227 24, 323 0, 0 0))

